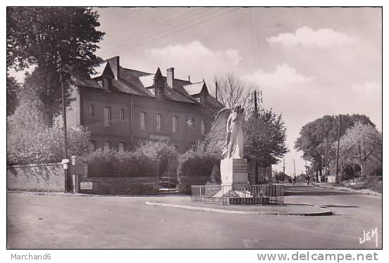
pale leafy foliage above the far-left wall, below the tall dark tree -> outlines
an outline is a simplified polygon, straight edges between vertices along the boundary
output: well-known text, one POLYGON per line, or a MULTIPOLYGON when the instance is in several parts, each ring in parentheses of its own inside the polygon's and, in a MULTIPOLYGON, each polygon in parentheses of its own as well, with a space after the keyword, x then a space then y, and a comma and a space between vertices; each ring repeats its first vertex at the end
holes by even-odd
MULTIPOLYGON (((34 91, 27 89, 21 94, 15 113, 7 118, 7 162, 58 162, 62 157, 62 128, 44 122, 44 107, 34 91)), ((68 127, 69 154, 87 153, 89 135, 85 127, 68 127)))

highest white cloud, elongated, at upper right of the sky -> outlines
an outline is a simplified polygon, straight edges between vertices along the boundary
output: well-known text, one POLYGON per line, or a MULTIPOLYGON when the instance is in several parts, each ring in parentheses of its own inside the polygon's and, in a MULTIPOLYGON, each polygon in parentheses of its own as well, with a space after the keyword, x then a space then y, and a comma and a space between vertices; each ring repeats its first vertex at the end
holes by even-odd
POLYGON ((295 33, 278 34, 276 37, 268 37, 268 44, 292 46, 301 44, 304 47, 328 48, 335 45, 347 45, 357 41, 357 37, 352 37, 342 32, 336 32, 331 28, 321 28, 313 30, 310 27, 300 27, 295 33))

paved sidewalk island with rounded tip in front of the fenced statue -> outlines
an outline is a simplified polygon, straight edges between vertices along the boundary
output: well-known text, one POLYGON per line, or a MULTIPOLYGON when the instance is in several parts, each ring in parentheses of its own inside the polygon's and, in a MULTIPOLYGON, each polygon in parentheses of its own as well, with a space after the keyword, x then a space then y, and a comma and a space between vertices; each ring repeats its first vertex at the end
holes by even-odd
POLYGON ((297 216, 323 216, 332 214, 331 210, 307 203, 284 203, 284 205, 217 205, 211 203, 192 202, 190 198, 188 198, 187 200, 154 200, 153 202, 147 201, 145 204, 224 214, 271 214, 297 216))

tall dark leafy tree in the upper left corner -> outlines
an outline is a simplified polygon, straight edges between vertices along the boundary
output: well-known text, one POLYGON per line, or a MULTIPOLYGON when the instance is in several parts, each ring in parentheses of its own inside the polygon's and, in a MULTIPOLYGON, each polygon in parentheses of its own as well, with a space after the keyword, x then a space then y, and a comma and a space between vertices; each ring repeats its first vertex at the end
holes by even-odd
POLYGON ((7 68, 37 67, 30 77, 51 115, 58 113, 51 104, 61 100, 59 69, 68 86, 71 75, 87 76, 98 61, 94 52, 104 36, 98 18, 91 8, 7 8, 7 68))

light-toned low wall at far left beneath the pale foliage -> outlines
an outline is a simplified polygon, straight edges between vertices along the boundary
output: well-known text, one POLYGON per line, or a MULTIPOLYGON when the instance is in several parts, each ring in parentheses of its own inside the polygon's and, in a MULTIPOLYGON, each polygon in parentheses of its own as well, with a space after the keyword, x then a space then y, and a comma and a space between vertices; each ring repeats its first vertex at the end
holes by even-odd
POLYGON ((7 167, 7 189, 13 191, 65 191, 61 163, 13 165, 7 167))

